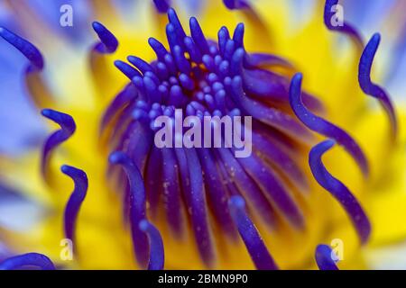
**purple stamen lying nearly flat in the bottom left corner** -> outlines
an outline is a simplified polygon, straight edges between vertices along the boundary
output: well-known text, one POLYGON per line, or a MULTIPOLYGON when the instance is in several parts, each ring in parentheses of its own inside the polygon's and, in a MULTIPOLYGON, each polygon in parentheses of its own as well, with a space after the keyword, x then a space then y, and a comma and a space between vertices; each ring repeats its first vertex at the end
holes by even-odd
POLYGON ((0 270, 16 270, 24 266, 35 266, 42 270, 55 270, 51 259, 38 253, 28 253, 5 259, 0 263, 0 270))

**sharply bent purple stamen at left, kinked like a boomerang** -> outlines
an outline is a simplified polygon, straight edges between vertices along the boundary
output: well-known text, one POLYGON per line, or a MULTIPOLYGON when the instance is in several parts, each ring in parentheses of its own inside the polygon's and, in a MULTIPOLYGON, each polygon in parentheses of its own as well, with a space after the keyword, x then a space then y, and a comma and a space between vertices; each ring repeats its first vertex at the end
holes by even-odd
POLYGON ((51 109, 42 110, 42 116, 60 125, 60 130, 52 133, 51 136, 45 141, 42 148, 42 175, 46 179, 46 170, 52 150, 57 148, 61 143, 73 135, 76 130, 76 124, 72 116, 69 114, 51 109))

